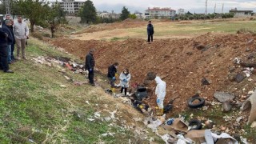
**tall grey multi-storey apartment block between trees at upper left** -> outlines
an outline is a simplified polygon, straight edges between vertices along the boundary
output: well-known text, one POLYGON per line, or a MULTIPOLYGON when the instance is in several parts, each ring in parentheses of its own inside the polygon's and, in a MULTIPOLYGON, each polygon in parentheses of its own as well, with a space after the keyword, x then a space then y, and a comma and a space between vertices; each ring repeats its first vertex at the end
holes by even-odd
POLYGON ((83 6, 84 2, 76 2, 74 0, 62 0, 58 2, 62 9, 69 15, 78 14, 79 9, 83 6))

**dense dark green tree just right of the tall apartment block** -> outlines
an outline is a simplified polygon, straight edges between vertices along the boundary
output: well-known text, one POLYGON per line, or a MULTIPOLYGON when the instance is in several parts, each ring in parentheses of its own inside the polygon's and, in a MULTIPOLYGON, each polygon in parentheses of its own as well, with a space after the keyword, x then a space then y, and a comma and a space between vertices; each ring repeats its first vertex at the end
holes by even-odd
POLYGON ((96 8, 94 7, 94 3, 90 0, 87 0, 79 10, 78 16, 81 17, 82 23, 96 22, 97 13, 96 8))

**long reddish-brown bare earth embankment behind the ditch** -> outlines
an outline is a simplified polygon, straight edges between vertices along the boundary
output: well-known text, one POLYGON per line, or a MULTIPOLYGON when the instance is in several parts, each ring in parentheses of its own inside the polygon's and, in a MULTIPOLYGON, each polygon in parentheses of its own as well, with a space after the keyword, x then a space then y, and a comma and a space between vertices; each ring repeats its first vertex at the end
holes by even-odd
MULTIPOLYGON (((174 102, 174 111, 184 110, 187 100, 198 93, 213 101, 216 91, 234 94, 234 101, 246 100, 256 84, 256 36, 253 34, 204 34, 197 38, 162 39, 148 44, 143 39, 122 42, 54 39, 54 46, 84 59, 96 49, 96 68, 106 74, 107 67, 119 62, 119 73, 129 68, 131 83, 142 83, 146 74, 156 72, 167 85, 165 102, 174 102), (250 68, 248 68, 250 67, 250 68)), ((156 106, 155 98, 150 104, 156 106)))

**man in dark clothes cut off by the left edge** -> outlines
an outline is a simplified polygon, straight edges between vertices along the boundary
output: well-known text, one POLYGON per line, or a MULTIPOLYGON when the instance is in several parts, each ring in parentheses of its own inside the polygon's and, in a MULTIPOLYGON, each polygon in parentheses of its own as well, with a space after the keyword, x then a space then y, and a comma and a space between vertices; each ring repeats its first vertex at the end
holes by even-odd
MULTIPOLYGON (((1 25, 1 22, 0 22, 1 25)), ((9 65, 7 62, 7 37, 2 28, 0 28, 0 69, 3 70, 5 73, 14 73, 12 70, 9 69, 9 65)))

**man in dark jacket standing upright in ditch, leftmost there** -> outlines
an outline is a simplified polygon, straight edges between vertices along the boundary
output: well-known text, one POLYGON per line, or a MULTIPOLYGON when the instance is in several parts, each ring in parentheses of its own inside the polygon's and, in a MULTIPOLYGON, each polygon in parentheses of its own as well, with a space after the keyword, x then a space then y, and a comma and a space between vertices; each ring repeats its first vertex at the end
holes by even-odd
POLYGON ((94 49, 90 49, 90 52, 86 55, 86 63, 85 63, 86 70, 89 71, 88 78, 91 86, 95 86, 94 84, 94 66, 95 66, 94 51, 95 51, 94 49))

